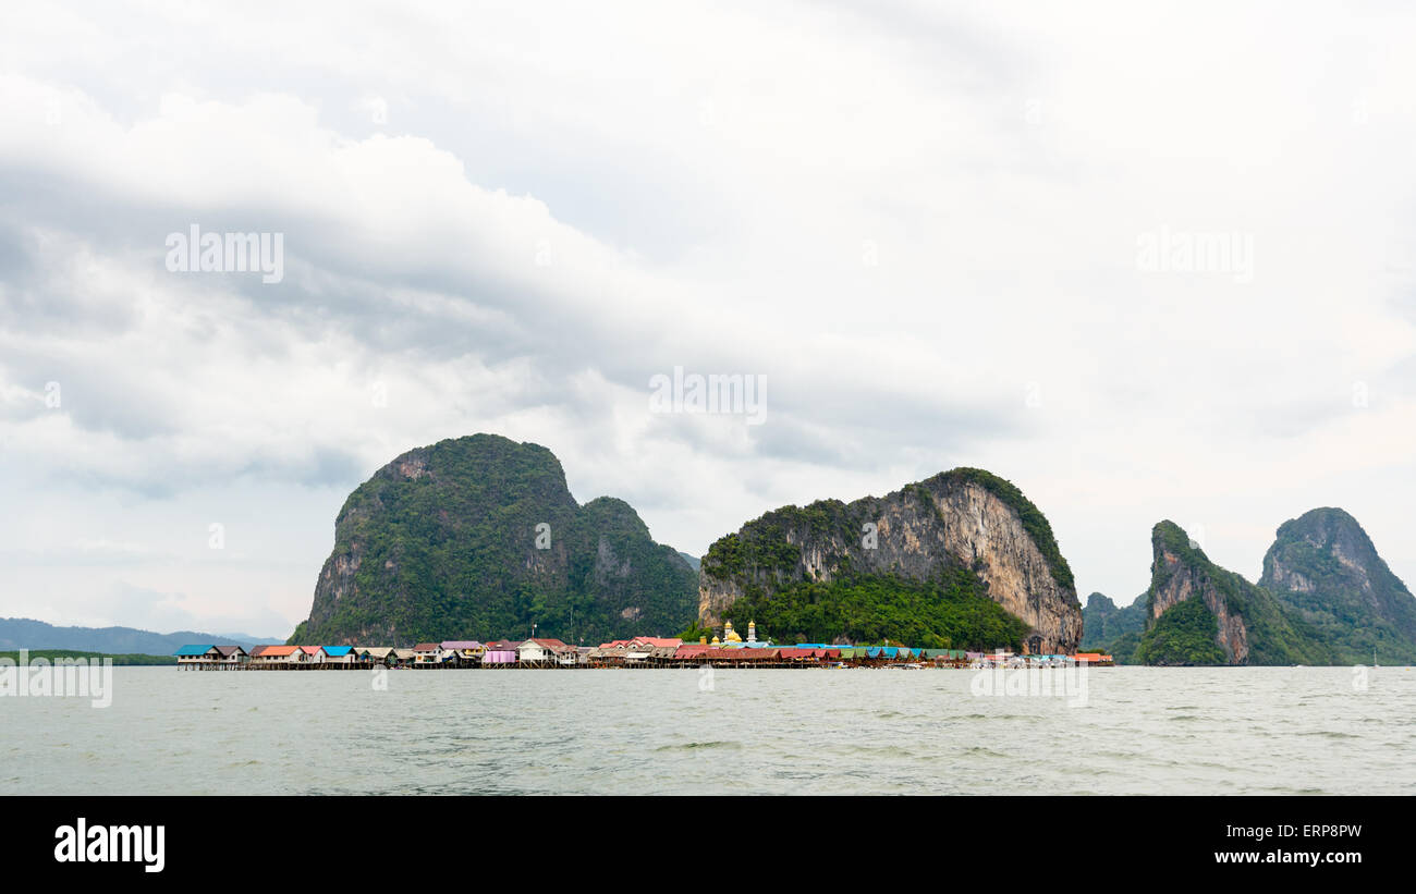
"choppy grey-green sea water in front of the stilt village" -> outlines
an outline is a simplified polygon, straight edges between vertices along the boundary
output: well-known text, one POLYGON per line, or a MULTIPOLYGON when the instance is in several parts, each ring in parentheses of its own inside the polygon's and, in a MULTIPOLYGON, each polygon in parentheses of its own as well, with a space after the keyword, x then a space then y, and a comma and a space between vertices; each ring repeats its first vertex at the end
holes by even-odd
POLYGON ((1045 673, 113 668, 0 697, 0 794, 1416 794, 1410 668, 1045 673))

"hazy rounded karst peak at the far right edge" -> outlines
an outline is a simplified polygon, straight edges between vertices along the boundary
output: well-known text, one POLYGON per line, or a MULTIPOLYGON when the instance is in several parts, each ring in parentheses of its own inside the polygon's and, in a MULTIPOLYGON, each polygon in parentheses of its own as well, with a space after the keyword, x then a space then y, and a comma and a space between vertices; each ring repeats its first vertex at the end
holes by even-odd
POLYGON ((1416 597, 1342 509, 1284 522, 1259 583, 1296 608, 1344 663, 1416 662, 1416 597))

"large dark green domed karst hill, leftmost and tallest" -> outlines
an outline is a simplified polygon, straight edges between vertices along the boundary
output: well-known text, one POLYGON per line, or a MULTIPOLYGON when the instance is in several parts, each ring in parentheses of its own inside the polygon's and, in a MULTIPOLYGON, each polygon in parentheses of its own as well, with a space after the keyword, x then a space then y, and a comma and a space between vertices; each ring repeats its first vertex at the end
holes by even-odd
POLYGON ((290 642, 602 642, 671 637, 694 620, 697 576, 639 513, 583 506, 538 444, 474 434, 411 450, 340 509, 309 620, 290 642))

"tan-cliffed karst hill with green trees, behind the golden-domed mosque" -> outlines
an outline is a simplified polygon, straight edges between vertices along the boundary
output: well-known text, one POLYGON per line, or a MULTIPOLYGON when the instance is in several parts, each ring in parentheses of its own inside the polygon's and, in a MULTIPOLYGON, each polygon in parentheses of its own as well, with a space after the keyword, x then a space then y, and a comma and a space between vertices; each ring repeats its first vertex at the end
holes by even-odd
MULTIPOLYGON (((749 522, 715 542, 704 557, 698 615, 712 627, 743 601, 770 610, 790 596, 800 611, 790 613, 787 624, 803 627, 800 632, 841 637, 854 631, 860 637, 867 625, 852 614, 861 600, 886 605, 892 588, 918 600, 915 617, 949 601, 947 617, 940 614, 935 627, 916 625, 912 634, 954 648, 1014 635, 1000 624, 1004 615, 990 615, 970 597, 986 597, 1017 618, 1021 645, 1031 652, 1072 652, 1082 639, 1072 571, 1046 519, 1017 487, 970 468, 942 472, 884 498, 784 506, 749 522), (919 590, 923 584, 937 587, 919 590)), ((905 637, 875 615, 872 629, 905 637)), ((760 617, 755 620, 762 625, 760 617)))

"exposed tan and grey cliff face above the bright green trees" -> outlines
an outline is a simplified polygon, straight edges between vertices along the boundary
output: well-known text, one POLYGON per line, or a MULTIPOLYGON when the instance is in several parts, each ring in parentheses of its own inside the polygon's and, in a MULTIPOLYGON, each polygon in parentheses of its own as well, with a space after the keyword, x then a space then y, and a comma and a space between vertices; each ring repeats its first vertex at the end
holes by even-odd
POLYGON ((800 581, 927 581, 960 569, 1027 624, 1028 651, 1076 649, 1082 607, 1051 528, 1021 491, 980 470, 942 472, 884 498, 786 506, 749 522, 704 557, 698 615, 712 627, 743 597, 770 598, 800 581))

